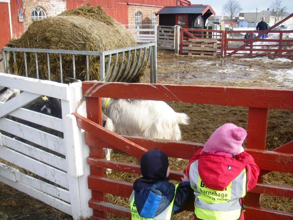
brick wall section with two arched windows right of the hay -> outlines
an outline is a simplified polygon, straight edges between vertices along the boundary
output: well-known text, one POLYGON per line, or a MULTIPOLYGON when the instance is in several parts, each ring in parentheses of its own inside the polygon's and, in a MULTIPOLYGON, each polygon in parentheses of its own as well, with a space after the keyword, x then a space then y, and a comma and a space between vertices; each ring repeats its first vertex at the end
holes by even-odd
MULTIPOLYGON (((128 5, 128 25, 135 25, 135 14, 142 14, 142 24, 151 24, 151 15, 159 11, 161 7, 128 5)), ((157 16, 157 24, 159 24, 159 16, 157 16)))

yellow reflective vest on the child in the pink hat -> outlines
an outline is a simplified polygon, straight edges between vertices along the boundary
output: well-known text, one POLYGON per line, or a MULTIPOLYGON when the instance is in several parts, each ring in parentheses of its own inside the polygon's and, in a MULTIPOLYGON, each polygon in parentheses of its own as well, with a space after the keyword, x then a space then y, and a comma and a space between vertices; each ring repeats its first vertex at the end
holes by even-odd
POLYGON ((236 220, 243 210, 239 199, 246 194, 246 169, 223 191, 209 189, 198 173, 198 160, 190 165, 190 185, 194 190, 194 213, 203 220, 236 220))

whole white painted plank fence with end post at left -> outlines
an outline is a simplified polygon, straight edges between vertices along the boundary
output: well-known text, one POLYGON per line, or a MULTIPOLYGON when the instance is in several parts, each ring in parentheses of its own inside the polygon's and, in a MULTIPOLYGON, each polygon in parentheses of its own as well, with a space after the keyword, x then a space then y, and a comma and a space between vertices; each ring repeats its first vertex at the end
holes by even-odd
POLYGON ((0 103, 0 161, 16 165, 0 162, 0 181, 74 219, 91 216, 93 211, 88 207, 91 190, 87 183, 90 171, 86 163, 89 149, 71 115, 77 112, 86 117, 81 82, 66 85, 0 73, 0 86, 23 91, 0 103), (62 119, 21 108, 41 95, 61 100, 62 119), (13 121, 10 116, 62 132, 63 138, 13 121), (39 178, 20 172, 18 167, 39 178))

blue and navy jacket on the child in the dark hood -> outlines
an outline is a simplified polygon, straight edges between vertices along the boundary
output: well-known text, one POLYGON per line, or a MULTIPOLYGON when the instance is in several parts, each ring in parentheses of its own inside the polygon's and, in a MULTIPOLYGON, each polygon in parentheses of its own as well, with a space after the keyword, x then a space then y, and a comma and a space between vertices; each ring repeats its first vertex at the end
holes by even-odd
MULTIPOLYGON (((154 218, 164 211, 172 202, 175 194, 175 185, 163 180, 146 188, 135 191, 134 201, 139 216, 154 218)), ((193 189, 189 182, 180 183, 176 190, 173 211, 180 209, 185 202, 193 198, 193 189)))

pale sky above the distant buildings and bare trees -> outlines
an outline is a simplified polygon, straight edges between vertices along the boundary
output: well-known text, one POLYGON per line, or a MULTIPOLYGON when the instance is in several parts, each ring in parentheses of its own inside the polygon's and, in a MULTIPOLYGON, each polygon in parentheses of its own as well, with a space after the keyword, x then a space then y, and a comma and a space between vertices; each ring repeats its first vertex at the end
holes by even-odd
MULTIPOLYGON (((191 1, 191 4, 205 4, 210 5, 214 12, 216 13, 216 16, 222 15, 222 7, 226 3, 226 0, 219 1, 219 0, 189 0, 191 1)), ((245 0, 245 1, 239 1, 241 4, 241 7, 243 10, 241 12, 255 12, 256 13, 256 7, 257 11, 263 11, 270 8, 270 5, 275 0, 245 0), (244 4, 245 3, 245 4, 244 4)), ((287 6, 287 12, 290 14, 293 13, 293 1, 292 0, 282 0, 283 6, 287 6)))

